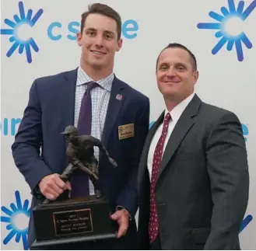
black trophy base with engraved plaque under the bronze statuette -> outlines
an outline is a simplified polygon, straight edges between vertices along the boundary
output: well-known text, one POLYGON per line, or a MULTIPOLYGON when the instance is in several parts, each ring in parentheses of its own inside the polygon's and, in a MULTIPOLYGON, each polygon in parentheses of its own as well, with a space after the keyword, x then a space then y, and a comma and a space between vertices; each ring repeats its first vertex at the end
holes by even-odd
POLYGON ((33 209, 36 240, 33 248, 116 238, 116 223, 110 219, 105 197, 80 197, 33 209))

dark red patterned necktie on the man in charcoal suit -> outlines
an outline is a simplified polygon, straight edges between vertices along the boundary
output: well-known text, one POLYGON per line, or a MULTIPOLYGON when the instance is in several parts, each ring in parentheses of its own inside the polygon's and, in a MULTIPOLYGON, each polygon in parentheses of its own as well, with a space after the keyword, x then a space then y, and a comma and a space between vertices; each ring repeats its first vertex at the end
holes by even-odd
POLYGON ((156 239, 156 236, 159 232, 159 223, 158 215, 156 212, 156 178, 160 169, 160 163, 163 155, 163 145, 164 141, 167 138, 167 131, 170 122, 170 113, 167 113, 166 117, 163 120, 163 130, 160 136, 159 141, 157 142, 156 149, 153 156, 153 167, 152 167, 152 176, 150 183, 150 218, 149 218, 149 240, 150 243, 156 239))

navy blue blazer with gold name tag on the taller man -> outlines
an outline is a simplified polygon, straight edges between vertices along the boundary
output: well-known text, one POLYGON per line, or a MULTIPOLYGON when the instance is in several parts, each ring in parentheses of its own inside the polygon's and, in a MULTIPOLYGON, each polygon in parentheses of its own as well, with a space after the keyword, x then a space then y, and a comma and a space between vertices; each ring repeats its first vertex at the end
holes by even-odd
MULTIPOLYGON (((30 89, 29 101, 12 145, 17 168, 33 194, 31 207, 39 200, 37 186, 51 173, 62 173, 68 165, 66 142, 61 134, 74 124, 77 69, 37 78, 30 89)), ((100 187, 112 211, 124 207, 134 218, 138 209, 136 180, 139 159, 149 129, 149 99, 114 76, 103 129, 102 141, 118 167, 100 154, 100 187), (117 99, 121 94, 122 99, 117 99), (135 136, 119 139, 118 126, 134 124, 135 136)), ((34 240, 30 217, 29 246, 34 240)))

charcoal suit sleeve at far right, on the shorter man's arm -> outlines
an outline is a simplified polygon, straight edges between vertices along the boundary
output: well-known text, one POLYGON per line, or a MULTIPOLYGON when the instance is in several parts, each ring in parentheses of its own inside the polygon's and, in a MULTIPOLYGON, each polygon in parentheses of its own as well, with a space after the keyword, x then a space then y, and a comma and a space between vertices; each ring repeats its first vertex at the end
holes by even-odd
POLYGON ((247 150, 236 115, 225 113, 216 122, 206 154, 213 210, 205 249, 234 249, 249 193, 247 150))

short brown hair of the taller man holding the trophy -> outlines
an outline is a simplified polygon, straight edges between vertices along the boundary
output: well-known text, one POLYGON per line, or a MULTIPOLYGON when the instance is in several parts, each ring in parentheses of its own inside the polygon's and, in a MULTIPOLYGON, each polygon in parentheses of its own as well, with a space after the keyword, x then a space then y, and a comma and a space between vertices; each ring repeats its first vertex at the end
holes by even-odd
POLYGON ((103 16, 108 16, 111 19, 114 19, 117 23, 117 40, 121 37, 121 16, 110 6, 104 5, 101 3, 94 3, 93 5, 89 5, 88 11, 82 13, 81 18, 81 33, 85 26, 86 18, 89 14, 100 14, 103 16))

